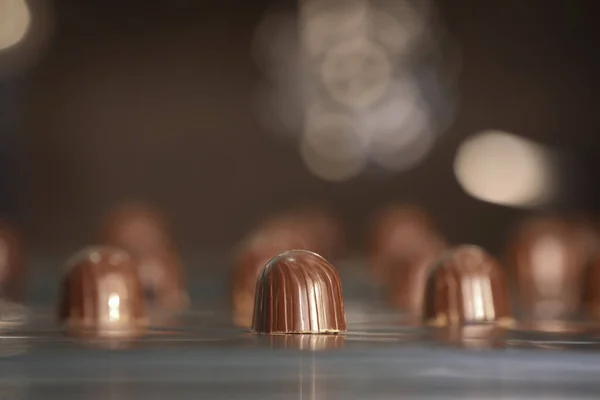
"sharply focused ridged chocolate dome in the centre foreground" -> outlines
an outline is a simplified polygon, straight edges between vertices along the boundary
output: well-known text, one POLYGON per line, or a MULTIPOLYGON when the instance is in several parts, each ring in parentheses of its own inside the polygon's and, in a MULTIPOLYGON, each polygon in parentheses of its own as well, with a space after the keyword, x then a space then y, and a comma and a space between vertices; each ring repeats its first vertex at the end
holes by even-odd
POLYGON ((252 329, 259 333, 345 331, 342 284, 335 268, 306 250, 273 258, 258 277, 252 329))

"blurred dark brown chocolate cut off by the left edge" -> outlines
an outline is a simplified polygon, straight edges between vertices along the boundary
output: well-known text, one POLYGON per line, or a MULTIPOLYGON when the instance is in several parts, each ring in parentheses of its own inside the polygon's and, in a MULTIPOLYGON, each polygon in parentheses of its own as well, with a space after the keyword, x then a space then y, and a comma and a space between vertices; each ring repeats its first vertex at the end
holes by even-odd
POLYGON ((25 272, 18 234, 8 224, 0 223, 0 298, 21 300, 25 272))

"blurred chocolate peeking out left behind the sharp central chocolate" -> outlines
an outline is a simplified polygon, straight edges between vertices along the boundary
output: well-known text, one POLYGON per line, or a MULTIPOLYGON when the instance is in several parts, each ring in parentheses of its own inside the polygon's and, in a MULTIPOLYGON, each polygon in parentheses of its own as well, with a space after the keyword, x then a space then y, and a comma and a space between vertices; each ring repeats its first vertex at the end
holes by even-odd
POLYGON ((283 227, 258 229, 242 241, 236 251, 231 277, 230 295, 236 325, 252 326, 256 280, 269 260, 287 250, 307 248, 302 235, 283 227))

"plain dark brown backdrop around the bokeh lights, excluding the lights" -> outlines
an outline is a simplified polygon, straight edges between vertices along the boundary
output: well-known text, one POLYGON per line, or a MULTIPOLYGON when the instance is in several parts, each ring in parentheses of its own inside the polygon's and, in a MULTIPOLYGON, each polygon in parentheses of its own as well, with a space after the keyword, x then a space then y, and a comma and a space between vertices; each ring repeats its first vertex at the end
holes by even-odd
MULTIPOLYGON (((272 2, 31 3, 53 16, 53 29, 35 60, 2 78, 2 119, 15 121, 0 125, 0 194, 36 252, 87 244, 127 198, 163 209, 186 251, 226 251, 262 215, 303 201, 333 207, 356 249, 373 211, 414 201, 450 240, 499 251, 526 211, 463 192, 452 161, 465 137, 503 129, 571 151, 591 171, 599 165, 592 1, 440 1, 462 49, 454 125, 415 169, 343 183, 311 175, 296 147, 255 116, 261 74, 249 48, 272 2), (18 107, 8 113, 9 104, 18 107)), ((592 190, 560 207, 594 210, 595 198, 592 190)))

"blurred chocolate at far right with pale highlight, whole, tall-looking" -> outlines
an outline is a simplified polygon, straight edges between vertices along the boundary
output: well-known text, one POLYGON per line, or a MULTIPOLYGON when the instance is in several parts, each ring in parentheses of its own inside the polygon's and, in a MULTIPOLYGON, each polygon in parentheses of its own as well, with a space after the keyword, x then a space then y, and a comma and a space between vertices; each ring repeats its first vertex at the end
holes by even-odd
POLYGON ((596 240, 590 227, 563 218, 535 218, 519 227, 509 246, 508 264, 525 319, 576 316, 583 271, 596 240))

